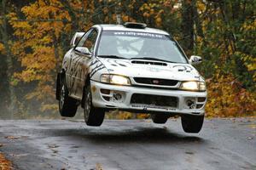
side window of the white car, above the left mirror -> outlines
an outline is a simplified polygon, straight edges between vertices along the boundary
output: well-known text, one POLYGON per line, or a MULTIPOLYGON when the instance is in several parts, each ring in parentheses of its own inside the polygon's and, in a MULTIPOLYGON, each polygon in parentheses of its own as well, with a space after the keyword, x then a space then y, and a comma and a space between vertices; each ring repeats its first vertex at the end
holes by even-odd
POLYGON ((90 53, 93 53, 93 49, 96 43, 96 38, 97 38, 97 32, 95 29, 93 29, 92 31, 89 32, 89 35, 85 35, 84 37, 82 37, 77 47, 88 48, 90 53))

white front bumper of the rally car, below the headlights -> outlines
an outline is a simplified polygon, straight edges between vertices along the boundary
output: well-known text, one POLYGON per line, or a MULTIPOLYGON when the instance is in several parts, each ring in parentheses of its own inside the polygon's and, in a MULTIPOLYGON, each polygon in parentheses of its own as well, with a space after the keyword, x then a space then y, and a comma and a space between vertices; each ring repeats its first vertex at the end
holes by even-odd
POLYGON ((157 89, 157 88, 141 88, 133 86, 117 86, 112 84, 105 84, 102 82, 90 81, 92 92, 92 104, 95 107, 105 109, 119 109, 133 112, 164 112, 172 114, 192 114, 204 115, 205 105, 207 103, 207 92, 189 92, 183 90, 172 89, 157 89), (101 89, 105 91, 110 90, 110 93, 104 94, 101 89), (119 98, 119 96, 121 98, 119 98), (157 96, 170 96, 177 98, 176 106, 160 106, 131 103, 132 94, 147 94, 157 96), (202 100, 205 99, 205 100, 202 100), (192 101, 193 105, 188 105, 188 100, 192 101))

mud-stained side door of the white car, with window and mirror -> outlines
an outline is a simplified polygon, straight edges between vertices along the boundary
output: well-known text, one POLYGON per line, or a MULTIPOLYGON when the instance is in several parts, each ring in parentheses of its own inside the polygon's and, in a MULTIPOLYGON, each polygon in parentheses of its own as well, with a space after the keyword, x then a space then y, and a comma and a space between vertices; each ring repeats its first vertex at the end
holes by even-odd
POLYGON ((91 29, 73 49, 69 79, 70 94, 74 98, 82 99, 84 79, 88 72, 87 64, 94 53, 97 35, 96 29, 91 29))

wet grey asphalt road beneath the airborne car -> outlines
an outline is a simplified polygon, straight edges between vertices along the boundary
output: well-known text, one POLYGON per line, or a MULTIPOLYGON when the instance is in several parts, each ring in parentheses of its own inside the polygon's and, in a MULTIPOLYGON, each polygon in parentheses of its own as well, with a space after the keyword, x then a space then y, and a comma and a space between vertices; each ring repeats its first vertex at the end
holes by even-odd
POLYGON ((183 133, 180 119, 103 122, 1 121, 0 151, 15 169, 256 169, 256 118, 206 120, 183 133))

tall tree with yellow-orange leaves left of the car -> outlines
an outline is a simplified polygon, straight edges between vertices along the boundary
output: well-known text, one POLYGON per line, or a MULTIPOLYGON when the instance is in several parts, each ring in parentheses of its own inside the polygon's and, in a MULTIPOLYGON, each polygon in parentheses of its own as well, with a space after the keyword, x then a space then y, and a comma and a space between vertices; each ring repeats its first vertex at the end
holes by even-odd
POLYGON ((22 66, 22 71, 15 73, 13 82, 36 82, 38 85, 26 95, 26 99, 44 100, 42 106, 49 105, 55 94, 56 61, 63 51, 58 44, 61 43, 61 34, 71 31, 71 24, 65 22, 71 17, 59 0, 38 0, 21 8, 21 11, 26 21, 17 22, 16 14, 9 14, 9 22, 17 37, 12 51, 22 66))

